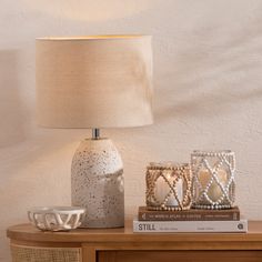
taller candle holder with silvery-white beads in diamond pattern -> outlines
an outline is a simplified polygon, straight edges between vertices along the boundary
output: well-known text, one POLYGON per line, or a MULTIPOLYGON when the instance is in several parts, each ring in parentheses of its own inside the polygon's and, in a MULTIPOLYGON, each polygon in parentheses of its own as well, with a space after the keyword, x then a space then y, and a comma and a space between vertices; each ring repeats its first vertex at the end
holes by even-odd
POLYGON ((231 209, 235 200, 235 155, 225 151, 191 154, 192 208, 231 209))

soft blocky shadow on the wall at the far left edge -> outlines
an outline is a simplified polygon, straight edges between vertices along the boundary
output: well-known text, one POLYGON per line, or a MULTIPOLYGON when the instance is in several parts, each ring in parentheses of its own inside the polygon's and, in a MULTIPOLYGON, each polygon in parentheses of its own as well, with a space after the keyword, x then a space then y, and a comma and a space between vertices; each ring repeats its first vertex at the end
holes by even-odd
POLYGON ((0 50, 0 148, 24 140, 26 115, 19 95, 18 50, 0 50))

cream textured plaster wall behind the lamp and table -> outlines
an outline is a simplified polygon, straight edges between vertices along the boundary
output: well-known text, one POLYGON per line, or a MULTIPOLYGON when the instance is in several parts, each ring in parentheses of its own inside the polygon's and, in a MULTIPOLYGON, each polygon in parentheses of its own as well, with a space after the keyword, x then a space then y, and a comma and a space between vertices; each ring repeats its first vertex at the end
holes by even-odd
POLYGON ((138 32, 153 34, 155 123, 103 131, 124 161, 127 216, 144 203, 149 161, 232 149, 238 204, 262 219, 262 1, 1 0, 0 261, 30 206, 70 204, 71 158, 90 135, 36 125, 34 38, 138 32))

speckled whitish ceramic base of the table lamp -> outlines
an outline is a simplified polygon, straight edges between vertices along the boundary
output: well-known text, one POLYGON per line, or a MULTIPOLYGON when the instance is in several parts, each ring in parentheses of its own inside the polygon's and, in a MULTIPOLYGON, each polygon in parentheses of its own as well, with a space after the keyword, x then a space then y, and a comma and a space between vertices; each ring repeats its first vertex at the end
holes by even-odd
POLYGON ((82 228, 124 225, 123 164, 109 139, 83 140, 72 160, 72 205, 87 209, 82 228))

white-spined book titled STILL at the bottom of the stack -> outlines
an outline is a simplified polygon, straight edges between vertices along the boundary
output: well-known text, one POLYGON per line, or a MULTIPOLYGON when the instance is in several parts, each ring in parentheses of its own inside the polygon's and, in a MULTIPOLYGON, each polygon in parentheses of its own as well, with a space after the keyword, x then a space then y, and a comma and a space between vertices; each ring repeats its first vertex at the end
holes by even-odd
POLYGON ((174 233, 174 232, 232 232, 246 233, 248 220, 239 221, 139 221, 133 220, 133 232, 174 233))

